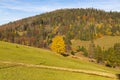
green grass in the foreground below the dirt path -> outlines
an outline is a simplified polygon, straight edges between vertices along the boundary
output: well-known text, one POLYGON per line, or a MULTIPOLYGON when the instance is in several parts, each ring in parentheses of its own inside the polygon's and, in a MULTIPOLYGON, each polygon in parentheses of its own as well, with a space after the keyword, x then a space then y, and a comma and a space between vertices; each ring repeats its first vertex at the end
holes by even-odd
POLYGON ((0 80, 115 80, 100 76, 49 69, 10 67, 0 69, 0 80))

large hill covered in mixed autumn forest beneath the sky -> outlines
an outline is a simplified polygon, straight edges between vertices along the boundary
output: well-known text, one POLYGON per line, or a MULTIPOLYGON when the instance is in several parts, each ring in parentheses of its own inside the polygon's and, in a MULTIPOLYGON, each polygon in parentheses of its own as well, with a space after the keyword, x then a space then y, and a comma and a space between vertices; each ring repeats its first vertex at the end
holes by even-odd
POLYGON ((64 36, 66 44, 71 39, 120 36, 120 12, 61 9, 0 26, 0 40, 36 47, 48 47, 56 35, 64 36))

